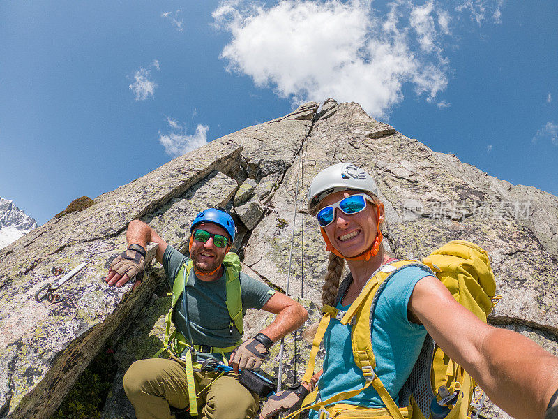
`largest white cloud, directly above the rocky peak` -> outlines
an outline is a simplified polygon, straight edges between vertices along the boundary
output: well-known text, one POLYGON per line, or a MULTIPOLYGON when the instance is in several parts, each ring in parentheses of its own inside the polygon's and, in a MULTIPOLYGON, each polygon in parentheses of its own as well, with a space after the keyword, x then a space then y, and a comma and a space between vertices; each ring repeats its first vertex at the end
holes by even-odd
POLYGON ((450 19, 432 1, 423 7, 391 3, 387 16, 358 0, 243 5, 221 3, 213 12, 216 27, 232 34, 221 54, 227 70, 249 75, 257 87, 271 86, 295 104, 333 97, 385 117, 402 101, 403 84, 414 84, 429 101, 447 86, 438 38, 449 33, 450 19), (420 51, 413 51, 415 44, 420 51))

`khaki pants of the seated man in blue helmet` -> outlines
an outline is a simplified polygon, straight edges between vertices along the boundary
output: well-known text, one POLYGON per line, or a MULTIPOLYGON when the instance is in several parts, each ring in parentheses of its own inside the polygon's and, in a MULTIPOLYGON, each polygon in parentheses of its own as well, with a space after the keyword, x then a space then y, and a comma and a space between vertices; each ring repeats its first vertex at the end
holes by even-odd
MULTIPOLYGON (((216 374, 194 372, 199 392, 216 374)), ((153 358, 134 362, 124 374, 124 390, 137 419, 174 419, 170 411, 188 407, 188 385, 183 363, 153 358)), ((203 419, 252 419, 259 408, 259 396, 239 383, 237 376, 222 376, 197 399, 203 419)))

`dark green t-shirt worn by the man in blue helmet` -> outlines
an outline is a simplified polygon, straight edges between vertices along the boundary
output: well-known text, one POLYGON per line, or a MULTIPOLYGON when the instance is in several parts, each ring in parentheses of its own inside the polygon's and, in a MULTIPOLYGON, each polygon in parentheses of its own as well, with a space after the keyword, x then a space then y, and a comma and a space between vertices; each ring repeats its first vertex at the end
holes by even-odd
MULTIPOLYGON (((189 260, 171 246, 165 250, 163 267, 171 289, 176 274, 189 260)), ((252 279, 242 272, 240 284, 243 315, 246 314, 247 309, 261 309, 274 293, 263 282, 252 279)), ((206 282, 199 280, 194 270, 190 270, 190 277, 186 283, 186 295, 193 344, 224 348, 236 344, 241 339, 240 332, 234 326, 232 330, 229 327, 231 318, 225 302, 225 274, 216 281, 206 282)), ((175 306, 174 325, 187 337, 183 307, 181 296, 175 306)))

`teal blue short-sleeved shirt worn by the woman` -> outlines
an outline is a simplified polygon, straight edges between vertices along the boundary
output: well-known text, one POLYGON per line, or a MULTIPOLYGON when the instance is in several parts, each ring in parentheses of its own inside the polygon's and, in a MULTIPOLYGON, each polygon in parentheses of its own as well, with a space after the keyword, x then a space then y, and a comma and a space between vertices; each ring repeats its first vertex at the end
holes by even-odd
MULTIPOLYGON (((398 392, 409 376, 421 352, 426 330, 407 318, 407 304, 416 283, 430 272, 409 266, 393 274, 379 295, 372 323, 372 350, 376 359, 375 372, 395 403, 398 392)), ((338 309, 347 310, 350 306, 338 309)), ((365 380, 354 363, 351 346, 351 325, 342 325, 332 318, 324 335, 324 373, 318 388, 322 400, 348 390, 363 388, 365 380)), ((382 407, 382 399, 372 386, 342 403, 367 407, 382 407)), ((310 418, 316 412, 312 411, 310 418)))

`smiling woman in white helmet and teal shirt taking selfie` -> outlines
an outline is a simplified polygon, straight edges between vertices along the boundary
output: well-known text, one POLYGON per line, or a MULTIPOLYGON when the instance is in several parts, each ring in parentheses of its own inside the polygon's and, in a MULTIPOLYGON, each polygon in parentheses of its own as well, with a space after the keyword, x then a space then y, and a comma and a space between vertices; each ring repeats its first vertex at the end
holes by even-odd
MULTIPOLYGON (((384 205, 378 198, 377 185, 367 172, 352 164, 330 166, 313 179, 308 210, 317 216, 326 249, 331 252, 323 303, 346 310, 372 274, 392 260, 382 246, 384 205), (345 261, 351 278, 349 286, 338 295, 345 261)), ((260 418, 296 410, 316 383, 322 400, 362 388, 365 380, 354 363, 350 328, 332 318, 324 335, 322 371, 299 388, 271 396, 260 418)), ((393 275, 379 295, 372 322, 375 374, 396 404, 427 331, 481 385, 492 402, 512 416, 531 419, 551 414, 551 405, 557 403, 558 358, 518 333, 483 323, 458 304, 439 279, 418 266, 405 267, 393 275)), ((384 407, 372 386, 342 403, 384 407)), ((316 412, 310 414, 310 418, 317 417, 316 412)))

